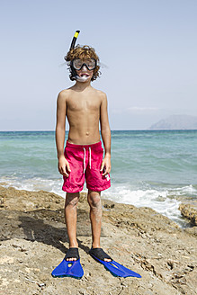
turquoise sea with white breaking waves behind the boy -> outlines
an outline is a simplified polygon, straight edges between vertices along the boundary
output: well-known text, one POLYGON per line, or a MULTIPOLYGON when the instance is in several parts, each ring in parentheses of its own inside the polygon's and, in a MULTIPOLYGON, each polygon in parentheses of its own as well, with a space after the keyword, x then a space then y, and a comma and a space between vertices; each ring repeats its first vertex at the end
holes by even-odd
MULTIPOLYGON (((112 130, 111 181, 103 198, 150 207, 187 227, 178 207, 197 199, 197 130, 112 130)), ((0 132, 0 184, 65 198, 55 132, 0 132)))

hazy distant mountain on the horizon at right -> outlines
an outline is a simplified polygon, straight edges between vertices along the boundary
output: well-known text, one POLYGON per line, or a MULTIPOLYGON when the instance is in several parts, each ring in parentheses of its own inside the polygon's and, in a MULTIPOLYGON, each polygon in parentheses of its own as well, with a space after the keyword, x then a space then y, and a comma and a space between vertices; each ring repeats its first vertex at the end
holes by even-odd
POLYGON ((188 115, 172 115, 157 121, 150 130, 197 130, 197 117, 188 115))

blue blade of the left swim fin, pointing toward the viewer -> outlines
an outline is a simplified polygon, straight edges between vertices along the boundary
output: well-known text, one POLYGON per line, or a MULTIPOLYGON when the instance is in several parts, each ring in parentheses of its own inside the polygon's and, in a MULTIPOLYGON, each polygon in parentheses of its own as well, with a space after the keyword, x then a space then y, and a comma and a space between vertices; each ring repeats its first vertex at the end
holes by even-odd
POLYGON ((80 259, 76 261, 66 261, 65 259, 58 264, 58 266, 52 271, 53 277, 72 277, 81 279, 84 275, 84 270, 80 264, 80 259))

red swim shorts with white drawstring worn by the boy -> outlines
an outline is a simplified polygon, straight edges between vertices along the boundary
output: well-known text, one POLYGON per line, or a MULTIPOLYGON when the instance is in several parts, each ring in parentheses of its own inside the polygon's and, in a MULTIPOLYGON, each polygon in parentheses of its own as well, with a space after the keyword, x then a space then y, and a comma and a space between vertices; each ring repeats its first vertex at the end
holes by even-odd
POLYGON ((94 192, 101 192, 111 186, 110 174, 102 175, 103 161, 102 142, 92 145, 74 145, 67 142, 65 157, 70 165, 68 177, 63 176, 64 192, 81 192, 86 187, 94 192))

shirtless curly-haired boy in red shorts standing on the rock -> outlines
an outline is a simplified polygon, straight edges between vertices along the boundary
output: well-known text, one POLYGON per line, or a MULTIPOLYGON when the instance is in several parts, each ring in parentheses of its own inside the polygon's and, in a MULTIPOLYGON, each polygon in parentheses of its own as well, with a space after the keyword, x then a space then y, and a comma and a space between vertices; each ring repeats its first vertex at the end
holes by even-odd
POLYGON ((67 192, 65 219, 69 249, 66 261, 79 259, 76 240, 76 205, 86 181, 90 206, 92 249, 104 261, 111 261, 100 246, 102 227, 101 191, 109 188, 111 171, 111 130, 108 121, 107 97, 94 89, 91 82, 99 76, 99 66, 93 48, 70 49, 65 58, 70 63, 70 79, 76 84, 58 94, 56 143, 58 171, 63 175, 63 191, 67 192), (69 123, 64 151, 66 117, 69 123), (103 139, 100 139, 99 123, 103 139))

